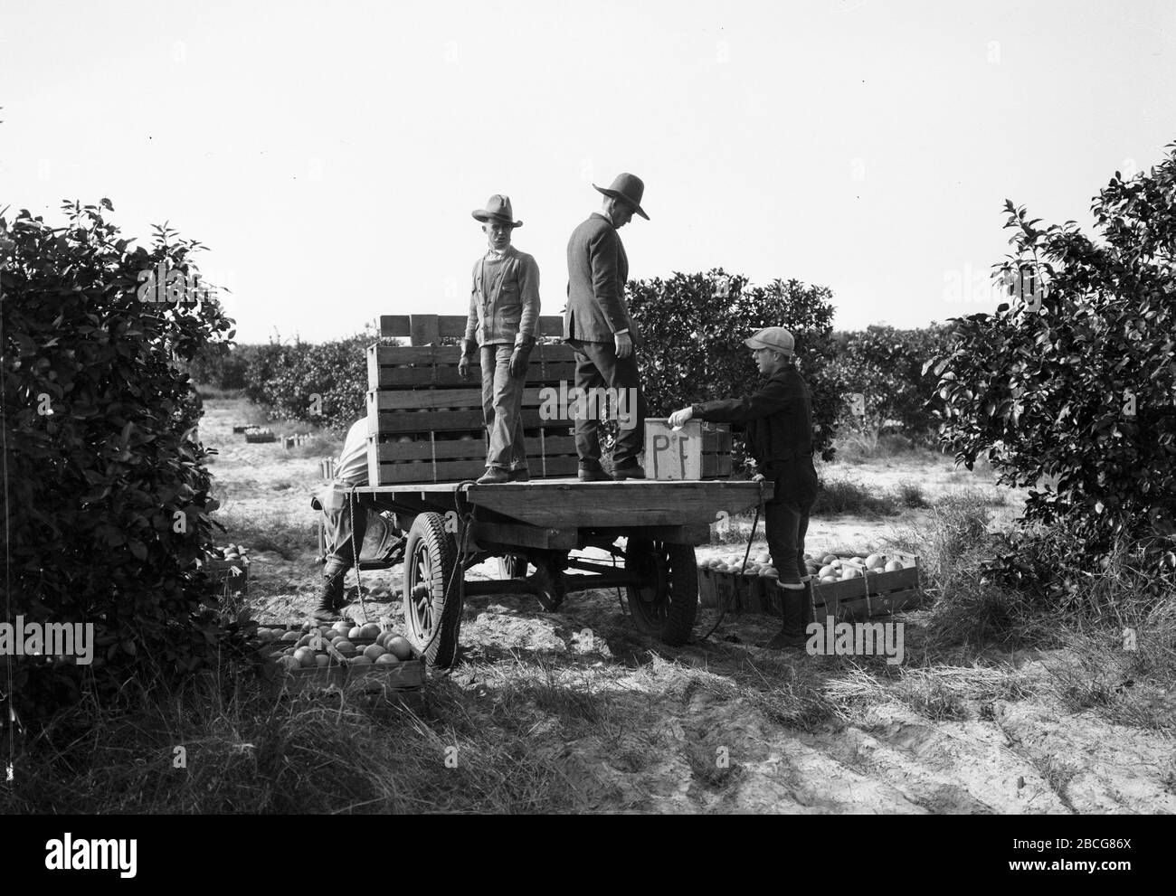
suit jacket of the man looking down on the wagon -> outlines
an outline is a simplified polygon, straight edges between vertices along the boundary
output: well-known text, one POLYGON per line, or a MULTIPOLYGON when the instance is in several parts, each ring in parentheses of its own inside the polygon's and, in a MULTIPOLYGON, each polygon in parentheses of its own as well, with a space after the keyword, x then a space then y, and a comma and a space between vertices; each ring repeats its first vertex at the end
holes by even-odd
POLYGON ((619 329, 637 332, 624 301, 629 259, 613 222, 593 214, 568 240, 568 305, 563 310, 563 337, 612 342, 619 329))

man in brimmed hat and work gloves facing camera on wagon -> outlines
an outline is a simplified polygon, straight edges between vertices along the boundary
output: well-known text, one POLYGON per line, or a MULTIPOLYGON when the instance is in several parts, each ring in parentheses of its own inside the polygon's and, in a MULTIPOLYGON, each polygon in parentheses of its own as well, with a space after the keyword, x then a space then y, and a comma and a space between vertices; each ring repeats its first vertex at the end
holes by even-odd
POLYGON ((462 340, 462 376, 481 347, 482 410, 490 436, 486 473, 477 483, 526 482, 527 446, 522 435, 522 395, 527 363, 539 326, 539 265, 510 245, 514 220, 510 198, 493 195, 473 212, 482 222, 489 250, 474 262, 469 317, 462 340))

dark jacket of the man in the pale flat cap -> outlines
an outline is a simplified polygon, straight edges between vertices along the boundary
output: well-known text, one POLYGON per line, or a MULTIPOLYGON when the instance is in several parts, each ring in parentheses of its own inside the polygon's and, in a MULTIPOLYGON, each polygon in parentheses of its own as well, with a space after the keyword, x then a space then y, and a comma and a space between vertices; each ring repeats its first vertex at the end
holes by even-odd
POLYGON ((748 452, 763 475, 775 481, 777 501, 816 497, 811 397, 795 367, 777 370, 742 399, 695 404, 694 416, 746 429, 748 452))

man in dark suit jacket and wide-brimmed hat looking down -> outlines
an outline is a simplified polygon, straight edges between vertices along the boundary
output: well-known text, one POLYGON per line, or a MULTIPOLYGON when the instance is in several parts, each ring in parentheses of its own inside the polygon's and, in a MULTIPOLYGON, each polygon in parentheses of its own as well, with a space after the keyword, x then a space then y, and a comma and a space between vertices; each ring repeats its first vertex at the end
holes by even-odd
MULTIPOLYGON (((609 388, 615 390, 613 395, 623 395, 622 401, 635 406, 627 409, 628 427, 620 430, 613 449, 613 479, 644 479, 646 472, 637 463, 646 430, 646 397, 635 350, 640 341, 624 301, 629 259, 616 232, 634 213, 649 220, 641 208, 646 186, 633 174, 619 174, 607 189, 595 183, 593 187, 604 194, 604 200, 568 241, 563 339, 575 352, 575 386, 581 395, 600 395, 609 388)), ((599 422, 596 415, 576 419, 576 453, 584 482, 608 479, 600 464, 599 422)))

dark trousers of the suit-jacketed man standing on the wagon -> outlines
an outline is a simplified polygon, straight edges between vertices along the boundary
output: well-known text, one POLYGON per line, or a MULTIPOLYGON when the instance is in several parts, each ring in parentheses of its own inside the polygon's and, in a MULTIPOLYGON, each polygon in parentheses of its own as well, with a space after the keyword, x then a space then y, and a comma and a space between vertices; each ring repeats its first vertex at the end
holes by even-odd
MULTIPOLYGON (((637 455, 646 440, 646 396, 641 390, 641 374, 637 370, 637 352, 633 350, 626 359, 616 356, 613 342, 586 342, 569 339, 576 357, 576 388, 582 395, 596 396, 603 388, 624 389, 623 401, 628 420, 627 427, 617 433, 616 446, 613 448, 613 467, 635 467, 637 455), (588 392, 589 389, 594 392, 588 392)), ((589 408, 599 408, 595 397, 588 399, 589 408)), ((594 415, 576 419, 576 454, 580 455, 581 469, 600 468, 600 421, 594 415)))

